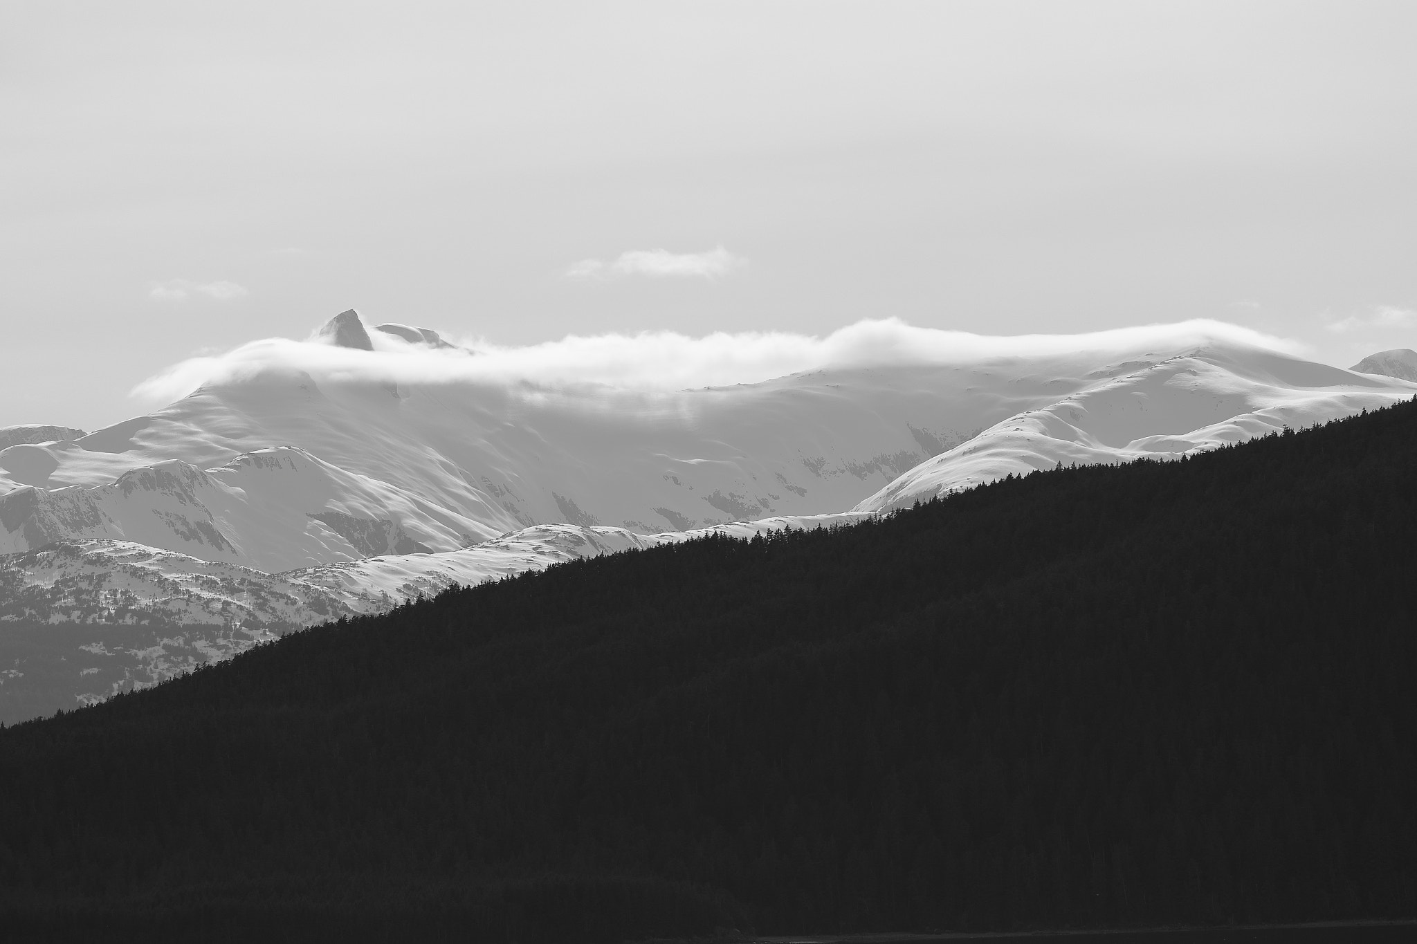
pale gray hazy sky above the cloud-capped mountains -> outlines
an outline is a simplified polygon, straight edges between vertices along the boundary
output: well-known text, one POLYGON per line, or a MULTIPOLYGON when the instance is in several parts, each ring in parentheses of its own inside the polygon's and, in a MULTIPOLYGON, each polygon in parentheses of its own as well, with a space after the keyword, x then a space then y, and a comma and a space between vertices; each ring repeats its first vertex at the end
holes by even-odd
POLYGON ((347 307, 1417 347, 1414 37, 1353 0, 11 0, 0 425, 347 307))

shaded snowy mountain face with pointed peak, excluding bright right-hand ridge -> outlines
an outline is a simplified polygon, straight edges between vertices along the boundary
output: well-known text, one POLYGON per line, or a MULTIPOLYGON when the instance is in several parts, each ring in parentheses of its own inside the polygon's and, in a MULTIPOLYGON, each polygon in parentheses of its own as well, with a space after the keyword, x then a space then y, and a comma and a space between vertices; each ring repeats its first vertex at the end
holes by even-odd
POLYGON ((354 313, 336 321, 319 337, 350 345, 341 369, 262 365, 79 439, 6 450, 0 552, 109 538, 282 570, 534 524, 655 534, 842 511, 1107 365, 1051 358, 981 379, 915 362, 672 392, 411 384, 380 379, 395 355, 366 348, 354 313))

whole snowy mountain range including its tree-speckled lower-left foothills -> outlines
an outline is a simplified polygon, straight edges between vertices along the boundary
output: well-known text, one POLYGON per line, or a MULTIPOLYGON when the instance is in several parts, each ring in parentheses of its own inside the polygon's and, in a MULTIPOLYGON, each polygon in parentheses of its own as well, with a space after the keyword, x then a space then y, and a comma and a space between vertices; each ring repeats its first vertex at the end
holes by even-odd
POLYGON ((572 556, 850 521, 1417 393, 1206 326, 1098 337, 657 391, 509 378, 429 328, 341 313, 153 413, 0 430, 0 706, 572 556))

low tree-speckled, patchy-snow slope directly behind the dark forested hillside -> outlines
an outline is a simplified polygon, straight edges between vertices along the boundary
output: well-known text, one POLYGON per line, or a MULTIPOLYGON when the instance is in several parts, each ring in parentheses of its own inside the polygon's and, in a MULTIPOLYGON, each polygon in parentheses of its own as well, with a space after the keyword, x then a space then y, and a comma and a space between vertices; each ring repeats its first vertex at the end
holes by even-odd
POLYGON ((0 723, 92 705, 292 630, 384 613, 455 586, 706 534, 752 536, 866 517, 767 518, 657 535, 534 525, 462 551, 385 555, 273 575, 126 541, 50 543, 0 556, 0 723))

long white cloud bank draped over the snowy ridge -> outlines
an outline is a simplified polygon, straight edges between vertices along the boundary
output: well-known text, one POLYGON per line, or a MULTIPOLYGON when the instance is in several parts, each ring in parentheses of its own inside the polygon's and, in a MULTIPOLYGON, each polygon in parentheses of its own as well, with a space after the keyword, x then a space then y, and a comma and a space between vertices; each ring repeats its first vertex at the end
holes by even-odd
POLYGON ((1091 334, 988 337, 918 328, 898 318, 857 321, 819 338, 782 331, 687 337, 672 331, 568 335, 526 347, 470 341, 469 350, 431 350, 373 331, 374 351, 315 341, 268 338, 217 357, 196 357, 133 388, 145 401, 170 402, 198 386, 242 382, 264 372, 305 372, 319 379, 398 384, 602 384, 673 391, 754 384, 832 367, 968 364, 1068 352, 1138 355, 1175 352, 1209 343, 1298 354, 1302 345, 1234 324, 1193 320, 1091 334))

